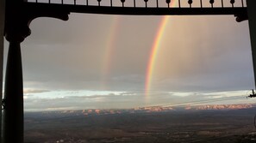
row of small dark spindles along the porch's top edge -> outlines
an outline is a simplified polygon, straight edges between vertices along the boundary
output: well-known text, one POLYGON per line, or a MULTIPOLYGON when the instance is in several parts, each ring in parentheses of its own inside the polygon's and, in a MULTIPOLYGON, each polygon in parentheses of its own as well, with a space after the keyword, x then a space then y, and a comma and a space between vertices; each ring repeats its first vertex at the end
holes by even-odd
POLYGON ((28 0, 28 3, 59 3, 105 7, 144 8, 235 8, 246 0, 28 0))

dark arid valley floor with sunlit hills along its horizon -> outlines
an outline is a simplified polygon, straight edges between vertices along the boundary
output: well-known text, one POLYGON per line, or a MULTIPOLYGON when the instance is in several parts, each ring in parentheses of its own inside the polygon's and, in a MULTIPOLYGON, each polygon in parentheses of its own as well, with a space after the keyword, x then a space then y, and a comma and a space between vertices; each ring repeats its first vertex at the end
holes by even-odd
POLYGON ((25 142, 250 143, 255 114, 251 105, 26 112, 25 142))

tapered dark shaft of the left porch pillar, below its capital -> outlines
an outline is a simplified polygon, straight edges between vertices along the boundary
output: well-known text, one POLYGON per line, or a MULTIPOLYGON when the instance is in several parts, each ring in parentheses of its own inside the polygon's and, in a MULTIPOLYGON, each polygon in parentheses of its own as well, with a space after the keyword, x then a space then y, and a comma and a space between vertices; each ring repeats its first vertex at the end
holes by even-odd
POLYGON ((3 142, 23 142, 22 41, 10 40, 4 83, 3 142))

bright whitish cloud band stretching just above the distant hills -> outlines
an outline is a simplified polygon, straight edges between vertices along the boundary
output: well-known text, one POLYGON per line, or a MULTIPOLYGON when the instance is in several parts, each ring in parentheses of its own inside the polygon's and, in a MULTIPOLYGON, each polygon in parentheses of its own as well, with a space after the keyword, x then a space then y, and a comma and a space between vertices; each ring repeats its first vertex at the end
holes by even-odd
MULTIPOLYGON (((70 93, 72 95, 72 93, 70 93)), ((153 105, 250 104, 245 91, 231 92, 153 92, 145 97, 141 92, 120 92, 107 95, 66 96, 62 98, 25 98, 25 110, 124 109, 153 105), (185 95, 185 96, 181 96, 185 95)))

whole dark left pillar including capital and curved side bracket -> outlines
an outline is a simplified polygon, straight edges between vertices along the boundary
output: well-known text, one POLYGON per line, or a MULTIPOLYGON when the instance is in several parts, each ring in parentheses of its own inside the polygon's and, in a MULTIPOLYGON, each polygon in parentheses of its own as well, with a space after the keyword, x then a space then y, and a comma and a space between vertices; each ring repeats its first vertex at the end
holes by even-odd
POLYGON ((9 41, 3 98, 3 143, 24 142, 21 43, 30 35, 29 24, 37 17, 68 20, 66 9, 6 2, 5 38, 9 41))

